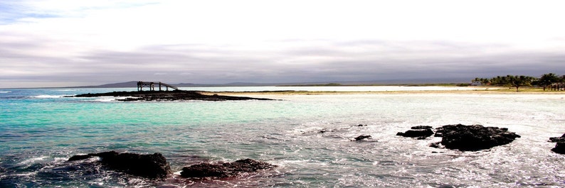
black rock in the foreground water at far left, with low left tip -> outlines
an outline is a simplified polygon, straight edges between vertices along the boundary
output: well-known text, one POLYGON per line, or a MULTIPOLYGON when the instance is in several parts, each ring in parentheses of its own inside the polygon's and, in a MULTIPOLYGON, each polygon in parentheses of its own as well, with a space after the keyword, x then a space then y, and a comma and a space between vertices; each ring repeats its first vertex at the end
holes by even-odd
POLYGON ((69 161, 100 157, 100 163, 110 170, 122 171, 130 175, 148 178, 164 178, 171 173, 167 159, 161 153, 141 155, 135 153, 117 153, 115 151, 74 155, 69 161))

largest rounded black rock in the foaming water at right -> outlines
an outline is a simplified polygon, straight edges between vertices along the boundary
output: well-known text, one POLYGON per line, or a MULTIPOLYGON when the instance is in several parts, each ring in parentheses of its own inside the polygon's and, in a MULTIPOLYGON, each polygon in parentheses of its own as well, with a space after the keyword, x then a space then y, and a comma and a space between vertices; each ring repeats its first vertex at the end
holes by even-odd
POLYGON ((511 143, 520 136, 507 128, 484 127, 481 125, 447 125, 437 128, 436 136, 442 137, 441 144, 448 149, 476 151, 511 143))

